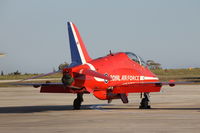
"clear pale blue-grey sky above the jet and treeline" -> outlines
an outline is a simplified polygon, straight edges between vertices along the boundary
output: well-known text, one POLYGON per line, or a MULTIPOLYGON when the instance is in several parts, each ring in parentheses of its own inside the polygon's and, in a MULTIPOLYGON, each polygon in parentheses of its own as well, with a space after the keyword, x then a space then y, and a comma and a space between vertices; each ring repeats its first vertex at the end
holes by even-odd
POLYGON ((200 67, 199 0, 0 0, 0 71, 70 63, 67 21, 92 58, 130 51, 163 68, 200 67))

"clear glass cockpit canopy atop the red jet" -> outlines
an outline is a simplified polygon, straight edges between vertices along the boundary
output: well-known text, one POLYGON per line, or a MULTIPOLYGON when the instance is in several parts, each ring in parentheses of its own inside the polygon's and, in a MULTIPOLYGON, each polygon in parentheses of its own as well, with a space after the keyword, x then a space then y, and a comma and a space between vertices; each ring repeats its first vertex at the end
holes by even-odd
POLYGON ((142 66, 147 66, 146 62, 140 57, 137 56, 136 54, 132 53, 132 52, 125 52, 125 54, 133 61, 135 61, 136 63, 142 65, 142 66))

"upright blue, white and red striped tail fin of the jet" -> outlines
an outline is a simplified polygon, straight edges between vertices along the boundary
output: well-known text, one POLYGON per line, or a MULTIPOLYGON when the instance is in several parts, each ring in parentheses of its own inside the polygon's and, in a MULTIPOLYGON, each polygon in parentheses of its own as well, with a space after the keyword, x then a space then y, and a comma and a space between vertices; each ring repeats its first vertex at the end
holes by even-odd
POLYGON ((85 48, 83 40, 76 26, 72 22, 67 22, 68 24, 68 34, 69 43, 71 51, 71 61, 70 67, 85 64, 91 60, 88 52, 85 48))

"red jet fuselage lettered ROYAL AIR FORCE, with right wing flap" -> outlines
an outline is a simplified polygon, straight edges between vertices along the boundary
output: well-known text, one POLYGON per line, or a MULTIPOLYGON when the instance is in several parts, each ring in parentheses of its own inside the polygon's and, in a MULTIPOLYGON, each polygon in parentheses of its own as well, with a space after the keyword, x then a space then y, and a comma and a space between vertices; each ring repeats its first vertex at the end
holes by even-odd
MULTIPOLYGON (((69 71, 68 68, 64 69, 69 71)), ((148 69, 136 61, 131 60, 127 54, 120 52, 109 54, 105 57, 94 59, 86 64, 79 65, 70 69, 70 74, 75 79, 71 86, 75 88, 85 88, 88 92, 102 100, 107 100, 108 90, 113 94, 118 93, 141 93, 158 92, 161 86, 155 84, 141 85, 137 83, 158 82, 158 78, 148 69), (91 69, 111 77, 110 81, 78 74, 82 69, 91 69), (134 87, 126 87, 133 84, 134 87), (117 87, 117 85, 124 85, 117 87), (115 86, 115 88, 112 88, 115 86), (102 96, 102 93, 105 95, 102 96)))

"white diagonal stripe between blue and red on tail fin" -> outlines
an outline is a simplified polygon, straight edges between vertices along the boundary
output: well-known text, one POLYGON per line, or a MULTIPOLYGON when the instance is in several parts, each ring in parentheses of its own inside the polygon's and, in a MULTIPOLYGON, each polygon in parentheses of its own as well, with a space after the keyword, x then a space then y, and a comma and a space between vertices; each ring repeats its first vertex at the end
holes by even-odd
POLYGON ((71 25, 71 28, 72 28, 72 32, 73 32, 73 35, 74 35, 74 39, 75 39, 75 42, 76 42, 76 46, 78 48, 78 52, 81 56, 81 61, 82 61, 82 64, 85 64, 86 63, 86 60, 85 60, 85 57, 84 57, 84 54, 83 54, 83 51, 81 49, 81 45, 80 45, 80 42, 78 40, 78 37, 77 37, 77 34, 75 32, 75 29, 74 29, 74 26, 72 24, 72 22, 70 22, 70 25, 71 25))

